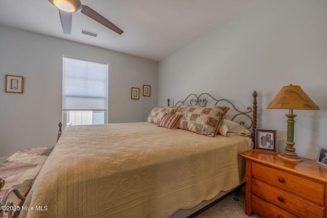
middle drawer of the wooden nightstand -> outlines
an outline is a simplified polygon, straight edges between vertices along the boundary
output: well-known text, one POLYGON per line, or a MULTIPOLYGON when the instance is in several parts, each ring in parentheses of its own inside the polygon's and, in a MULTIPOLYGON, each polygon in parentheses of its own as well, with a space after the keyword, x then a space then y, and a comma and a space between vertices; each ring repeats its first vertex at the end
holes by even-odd
POLYGON ((252 195, 299 217, 324 217, 324 208, 255 179, 252 179, 252 195))

